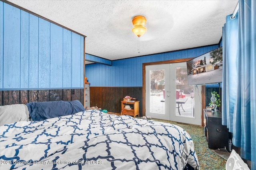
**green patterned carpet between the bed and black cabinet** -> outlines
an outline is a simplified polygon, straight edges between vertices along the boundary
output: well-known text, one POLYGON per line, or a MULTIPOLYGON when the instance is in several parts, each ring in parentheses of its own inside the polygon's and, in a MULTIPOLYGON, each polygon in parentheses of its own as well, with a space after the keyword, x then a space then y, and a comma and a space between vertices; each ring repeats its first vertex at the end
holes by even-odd
POLYGON ((160 119, 152 120, 178 125, 190 134, 194 141, 195 151, 201 170, 225 170, 226 160, 208 148, 204 135, 204 127, 198 125, 185 125, 160 119))

